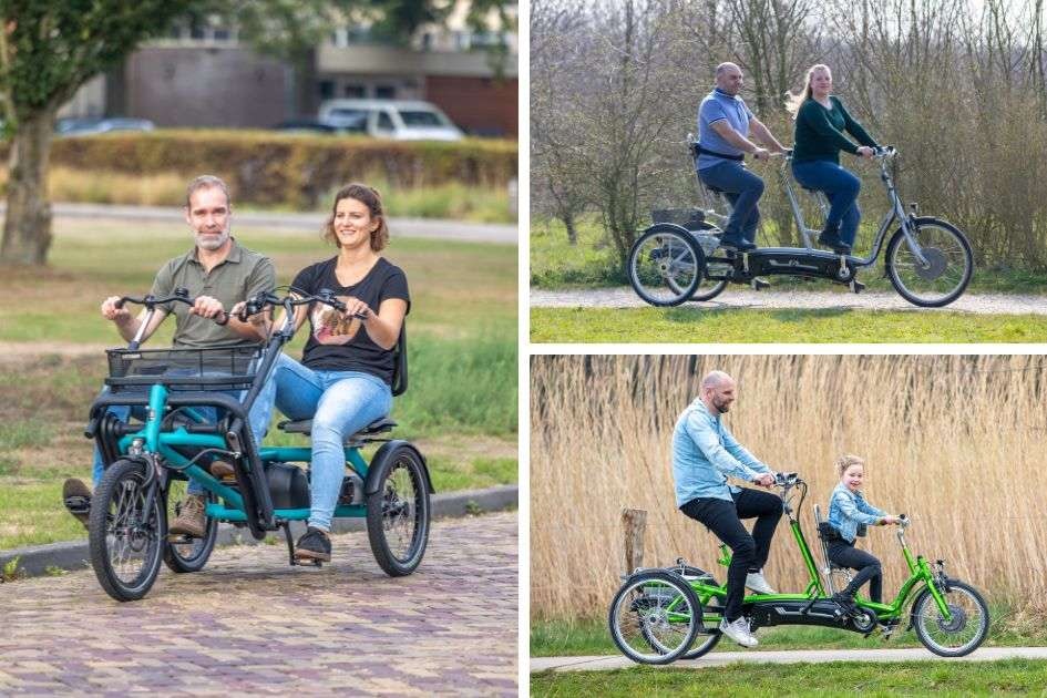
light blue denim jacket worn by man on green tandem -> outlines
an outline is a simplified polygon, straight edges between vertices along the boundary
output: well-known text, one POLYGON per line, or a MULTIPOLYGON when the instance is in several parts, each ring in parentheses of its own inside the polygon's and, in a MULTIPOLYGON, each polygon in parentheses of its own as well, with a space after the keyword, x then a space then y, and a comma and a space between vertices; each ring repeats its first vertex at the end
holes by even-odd
POLYGON ((673 430, 673 481, 676 505, 698 497, 731 501, 739 489, 727 484, 728 475, 752 482, 771 470, 746 451, 719 415, 714 417, 701 399, 687 406, 673 430))

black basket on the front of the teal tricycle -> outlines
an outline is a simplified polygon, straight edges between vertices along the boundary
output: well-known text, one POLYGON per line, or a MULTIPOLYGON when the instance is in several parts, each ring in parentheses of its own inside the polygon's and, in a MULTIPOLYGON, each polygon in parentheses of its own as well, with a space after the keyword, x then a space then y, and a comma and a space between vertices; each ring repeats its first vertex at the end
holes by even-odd
POLYGON ((246 390, 255 380, 263 346, 219 345, 206 349, 106 349, 114 391, 163 383, 171 390, 246 390))

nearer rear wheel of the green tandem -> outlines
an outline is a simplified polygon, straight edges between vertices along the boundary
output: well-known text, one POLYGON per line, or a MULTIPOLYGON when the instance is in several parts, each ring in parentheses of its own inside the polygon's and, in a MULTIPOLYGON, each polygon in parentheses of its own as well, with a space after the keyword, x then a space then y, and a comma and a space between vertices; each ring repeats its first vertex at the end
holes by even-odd
POLYGON ((686 583, 664 572, 629 577, 610 602, 610 638, 640 664, 678 659, 698 633, 701 607, 686 583))

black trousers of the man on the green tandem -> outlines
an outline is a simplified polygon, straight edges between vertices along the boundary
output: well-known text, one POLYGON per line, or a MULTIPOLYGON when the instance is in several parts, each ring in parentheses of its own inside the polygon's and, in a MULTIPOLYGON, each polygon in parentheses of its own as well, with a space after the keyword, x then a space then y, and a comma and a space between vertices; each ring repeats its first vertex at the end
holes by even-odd
POLYGON ((742 487, 732 493, 732 502, 715 497, 698 497, 680 511, 701 522, 731 548, 731 565, 727 568, 727 604, 723 617, 728 623, 741 616, 741 601, 746 595, 746 575, 763 567, 771 550, 774 527, 781 519, 781 497, 770 492, 742 487), (753 519, 750 535, 741 525, 742 519, 753 519))

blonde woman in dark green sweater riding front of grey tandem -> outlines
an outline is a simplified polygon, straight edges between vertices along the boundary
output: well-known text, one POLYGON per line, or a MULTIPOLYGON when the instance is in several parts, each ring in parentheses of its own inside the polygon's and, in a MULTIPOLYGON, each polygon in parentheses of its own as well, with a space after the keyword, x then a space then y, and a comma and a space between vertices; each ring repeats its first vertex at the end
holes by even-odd
POLYGON ((861 212, 858 192, 861 182, 840 165, 840 151, 872 157, 880 146, 843 109, 832 94, 832 73, 827 65, 807 71, 803 92, 790 95, 787 104, 797 120, 792 146, 792 175, 802 186, 829 196, 829 217, 818 244, 845 255, 854 245, 861 212), (861 145, 854 145, 843 133, 861 145))

